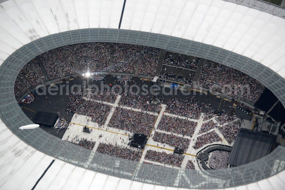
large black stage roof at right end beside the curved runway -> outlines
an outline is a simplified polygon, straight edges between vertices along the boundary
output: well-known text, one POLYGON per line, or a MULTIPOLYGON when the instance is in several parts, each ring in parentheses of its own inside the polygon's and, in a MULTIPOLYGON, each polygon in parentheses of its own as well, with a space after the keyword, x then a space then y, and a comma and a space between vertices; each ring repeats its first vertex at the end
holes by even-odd
POLYGON ((229 164, 239 166, 260 159, 275 149, 276 136, 241 128, 229 158, 229 164))

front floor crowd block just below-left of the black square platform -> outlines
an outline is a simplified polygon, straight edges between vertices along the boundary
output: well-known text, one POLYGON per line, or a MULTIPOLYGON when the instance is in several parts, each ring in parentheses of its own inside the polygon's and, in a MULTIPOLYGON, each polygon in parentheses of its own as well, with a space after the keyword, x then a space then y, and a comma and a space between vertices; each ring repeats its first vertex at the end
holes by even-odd
POLYGON ((127 146, 124 145, 117 145, 117 143, 115 145, 112 145, 110 143, 107 144, 101 142, 99 143, 96 152, 132 161, 139 161, 143 154, 143 151, 140 149, 133 150, 127 148, 127 146))

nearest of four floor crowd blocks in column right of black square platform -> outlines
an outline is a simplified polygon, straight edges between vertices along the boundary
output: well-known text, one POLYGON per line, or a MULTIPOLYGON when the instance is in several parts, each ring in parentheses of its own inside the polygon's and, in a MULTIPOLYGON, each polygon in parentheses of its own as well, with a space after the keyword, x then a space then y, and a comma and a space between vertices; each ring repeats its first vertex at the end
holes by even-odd
POLYGON ((144 159, 176 167, 181 167, 184 157, 185 156, 183 154, 168 154, 164 151, 158 152, 155 150, 147 150, 144 159))

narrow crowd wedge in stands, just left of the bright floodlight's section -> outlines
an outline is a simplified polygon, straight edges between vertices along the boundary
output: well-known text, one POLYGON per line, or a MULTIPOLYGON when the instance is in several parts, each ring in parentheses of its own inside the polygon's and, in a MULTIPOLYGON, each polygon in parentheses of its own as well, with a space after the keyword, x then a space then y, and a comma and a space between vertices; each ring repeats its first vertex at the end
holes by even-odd
POLYGON ((73 57, 74 46, 73 45, 62 46, 56 48, 54 52, 57 55, 63 76, 76 74, 75 62, 73 57))

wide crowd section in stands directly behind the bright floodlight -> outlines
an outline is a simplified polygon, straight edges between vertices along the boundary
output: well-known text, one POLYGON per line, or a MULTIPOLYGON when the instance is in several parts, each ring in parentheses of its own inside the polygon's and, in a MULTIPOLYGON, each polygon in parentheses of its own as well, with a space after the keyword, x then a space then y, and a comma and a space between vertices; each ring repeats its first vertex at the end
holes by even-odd
POLYGON ((74 48, 81 73, 109 70, 111 44, 106 42, 76 44, 74 48))

